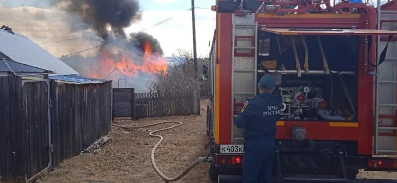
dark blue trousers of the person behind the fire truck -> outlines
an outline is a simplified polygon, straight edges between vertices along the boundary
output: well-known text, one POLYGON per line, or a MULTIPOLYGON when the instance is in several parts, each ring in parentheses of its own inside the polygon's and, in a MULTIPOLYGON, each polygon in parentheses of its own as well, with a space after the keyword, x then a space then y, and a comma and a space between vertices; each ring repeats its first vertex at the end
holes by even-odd
POLYGON ((274 137, 250 137, 246 139, 243 157, 243 182, 272 183, 274 157, 274 137))

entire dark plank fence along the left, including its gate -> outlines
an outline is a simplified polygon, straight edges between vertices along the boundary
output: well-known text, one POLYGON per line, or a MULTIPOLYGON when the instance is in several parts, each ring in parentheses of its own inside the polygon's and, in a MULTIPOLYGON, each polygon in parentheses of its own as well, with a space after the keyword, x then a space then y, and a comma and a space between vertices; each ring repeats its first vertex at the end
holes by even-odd
POLYGON ((110 81, 75 85, 1 76, 0 183, 33 179, 109 133, 111 91, 110 81))

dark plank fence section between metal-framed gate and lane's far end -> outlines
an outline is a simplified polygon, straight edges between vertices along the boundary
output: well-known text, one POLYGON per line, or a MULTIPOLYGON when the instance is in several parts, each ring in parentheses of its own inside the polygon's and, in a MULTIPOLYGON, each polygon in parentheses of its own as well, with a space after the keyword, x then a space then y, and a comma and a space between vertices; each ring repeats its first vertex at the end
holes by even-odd
POLYGON ((112 84, 52 81, 53 165, 81 153, 112 125, 112 84))

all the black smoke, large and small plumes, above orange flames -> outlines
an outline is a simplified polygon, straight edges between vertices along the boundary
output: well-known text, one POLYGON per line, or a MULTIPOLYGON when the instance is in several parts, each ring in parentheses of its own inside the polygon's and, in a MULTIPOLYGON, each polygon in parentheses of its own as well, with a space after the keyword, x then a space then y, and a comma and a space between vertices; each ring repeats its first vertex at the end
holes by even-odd
MULTIPOLYGON (((104 41, 125 36, 124 28, 140 20, 142 15, 138 0, 51 0, 51 4, 59 5, 70 13, 77 13, 104 41)), ((163 55, 158 40, 147 33, 133 35, 127 46, 143 52, 145 42, 150 43, 153 53, 163 55)))

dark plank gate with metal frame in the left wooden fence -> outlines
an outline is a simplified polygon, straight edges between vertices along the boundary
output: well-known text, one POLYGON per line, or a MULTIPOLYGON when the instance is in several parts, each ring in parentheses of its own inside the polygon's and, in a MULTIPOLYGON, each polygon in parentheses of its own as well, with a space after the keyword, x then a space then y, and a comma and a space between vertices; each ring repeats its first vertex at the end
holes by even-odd
POLYGON ((22 120, 27 179, 35 179, 52 166, 51 101, 49 80, 22 81, 22 120))

